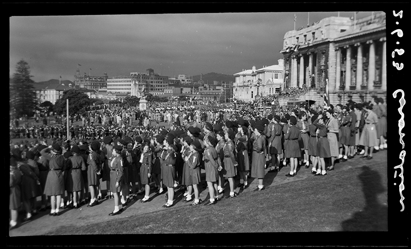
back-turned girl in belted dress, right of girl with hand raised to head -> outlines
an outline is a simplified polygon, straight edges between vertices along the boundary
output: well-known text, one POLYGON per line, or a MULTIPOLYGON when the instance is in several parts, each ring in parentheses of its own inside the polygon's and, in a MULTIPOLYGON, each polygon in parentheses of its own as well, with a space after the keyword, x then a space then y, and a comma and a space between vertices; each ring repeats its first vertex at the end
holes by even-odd
POLYGON ((84 179, 82 170, 86 170, 86 164, 84 163, 83 157, 80 156, 80 148, 78 146, 73 146, 71 148, 73 156, 67 161, 67 193, 72 193, 73 196, 73 208, 78 209, 80 203, 80 194, 84 189, 84 179))

